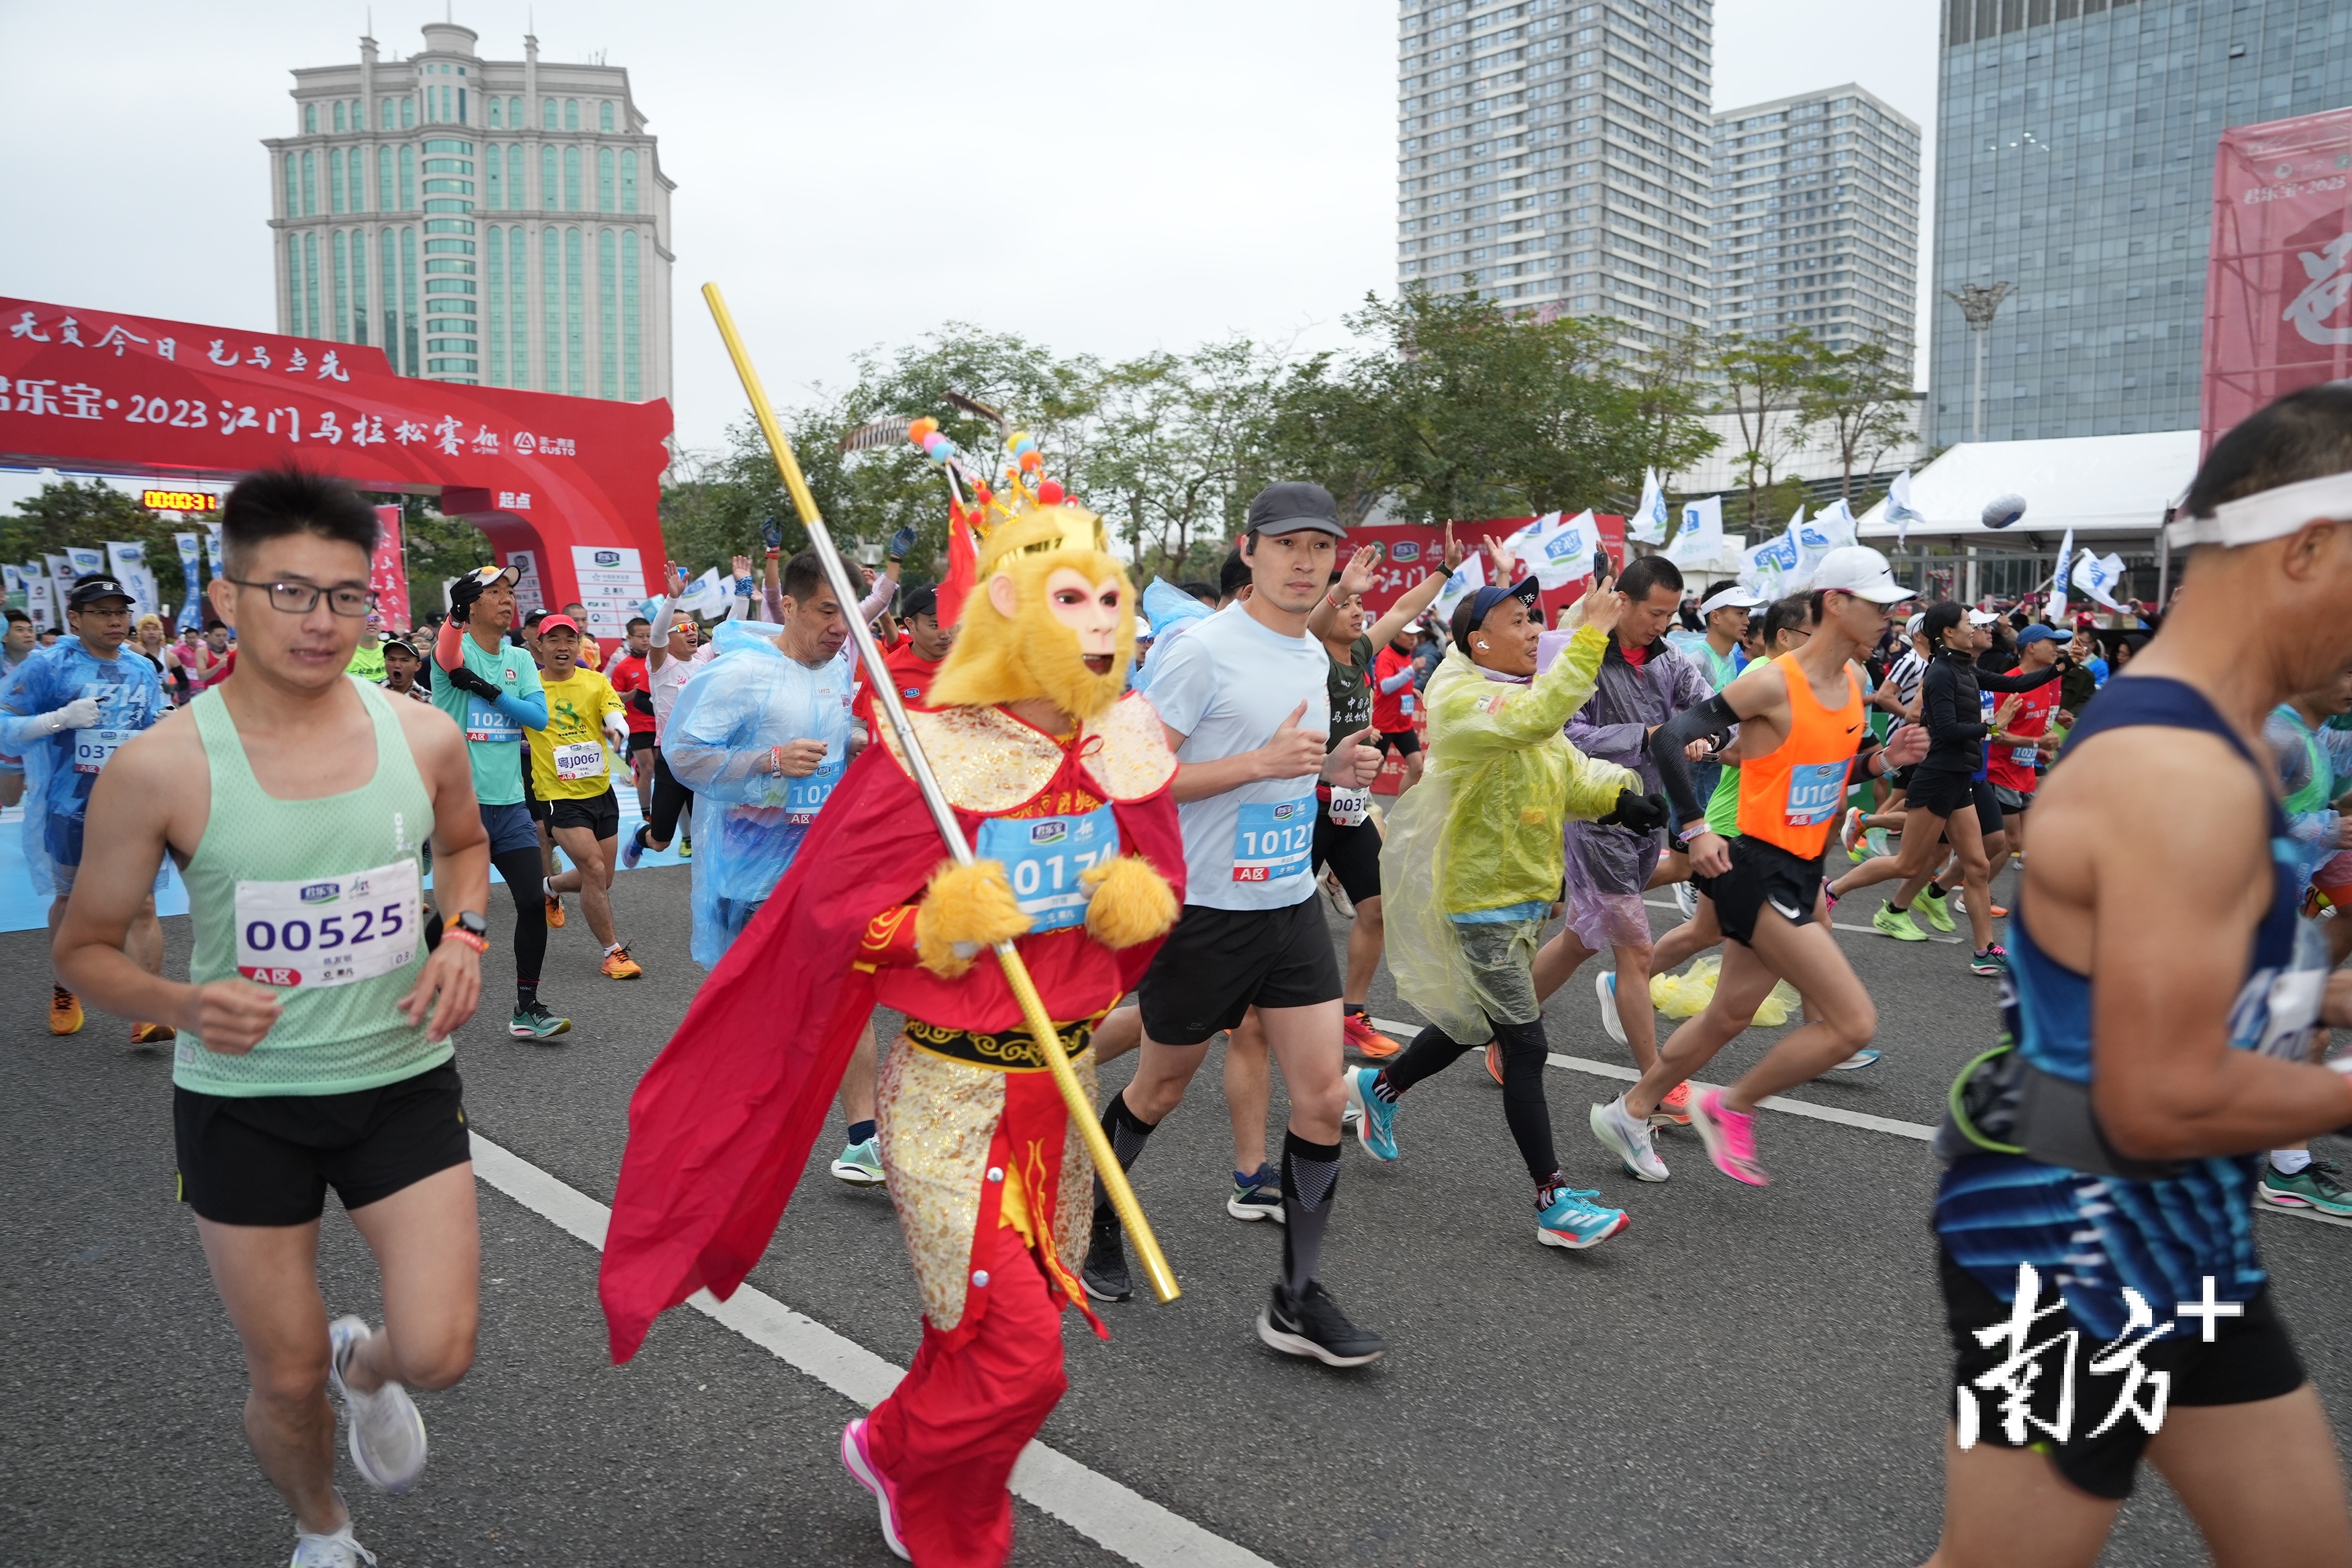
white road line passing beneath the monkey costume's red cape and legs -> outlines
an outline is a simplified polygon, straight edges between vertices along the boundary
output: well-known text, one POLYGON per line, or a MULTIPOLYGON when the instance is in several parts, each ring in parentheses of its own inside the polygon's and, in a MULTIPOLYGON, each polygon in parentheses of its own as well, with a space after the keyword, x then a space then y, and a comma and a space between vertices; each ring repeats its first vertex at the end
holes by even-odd
MULTIPOLYGON (((567 1187, 480 1133, 473 1135, 473 1173, 557 1229, 604 1251, 612 1211, 586 1192, 567 1187)), ((906 1368, 753 1286, 739 1288, 724 1302, 699 1291, 687 1305, 866 1408, 882 1403, 906 1375, 906 1368)), ((1021 1450, 1021 1462, 1014 1465, 1014 1495, 1148 1568, 1272 1568, 1263 1556, 1211 1535, 1044 1443, 1021 1450)))

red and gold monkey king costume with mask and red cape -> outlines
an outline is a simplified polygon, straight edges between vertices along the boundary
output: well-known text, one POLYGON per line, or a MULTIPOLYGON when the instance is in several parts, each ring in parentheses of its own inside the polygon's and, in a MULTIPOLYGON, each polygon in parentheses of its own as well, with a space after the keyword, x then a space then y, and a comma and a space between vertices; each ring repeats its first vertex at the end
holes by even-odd
POLYGON ((1016 938, 1091 1098, 1094 1023, 1183 900, 1176 757, 1150 703, 1120 693, 1134 588, 1094 512, 1025 505, 1000 522, 962 623, 931 710, 910 722, 978 863, 943 863, 882 724, 637 1086, 602 1274, 616 1361, 694 1291, 734 1293, 858 1025, 877 1004, 906 1013, 877 1121, 924 1335, 898 1389, 849 1422, 842 1460, 877 1495, 891 1549, 924 1566, 1011 1552, 1007 1479, 1068 1387, 1058 1309, 1087 1309, 1073 1265, 1094 1168, 983 947, 1016 938), (1115 656, 1089 663, 1056 616, 1073 590, 1117 592, 1115 656), (1025 698, 1061 708, 1073 733, 1004 708, 1025 698))

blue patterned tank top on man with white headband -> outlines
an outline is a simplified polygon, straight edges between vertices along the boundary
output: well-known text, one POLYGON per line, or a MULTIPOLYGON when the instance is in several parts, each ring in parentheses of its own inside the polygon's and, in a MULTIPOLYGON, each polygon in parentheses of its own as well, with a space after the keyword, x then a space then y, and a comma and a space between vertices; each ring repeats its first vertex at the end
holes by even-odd
MULTIPOLYGON (((2270 766, 2246 750, 2204 693, 2166 677, 2107 682, 2084 708, 2063 757, 2100 731, 2138 724, 2220 736, 2263 778, 2274 889, 2230 1009, 2230 1046, 2303 1060, 2319 1027, 2328 961, 2317 926, 2296 914, 2296 844, 2270 790, 2270 766)), ((2009 943, 2002 997, 2009 1037, 2042 1072, 2089 1084, 2091 976, 2044 952, 2023 907, 2009 922, 2009 943)), ((2126 1321, 2124 1288, 2138 1291, 2157 1321, 2169 1319, 2178 1302, 2199 1300, 2206 1276, 2216 1300, 2253 1298, 2265 1279, 2253 1251, 2253 1182, 2260 1171, 2260 1154, 2213 1154, 2187 1161, 2176 1175, 2126 1180, 2018 1154, 1969 1154, 1938 1185, 1936 1234, 2004 1302, 2016 1293, 2018 1265, 2034 1265, 2065 1293, 2084 1328, 2112 1340, 2126 1321)))

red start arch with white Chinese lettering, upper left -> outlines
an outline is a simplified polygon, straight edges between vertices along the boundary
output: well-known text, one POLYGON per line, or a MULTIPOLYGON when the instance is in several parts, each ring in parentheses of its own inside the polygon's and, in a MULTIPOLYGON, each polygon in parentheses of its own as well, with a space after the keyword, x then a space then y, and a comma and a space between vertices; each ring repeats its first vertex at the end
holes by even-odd
POLYGON ((0 296, 0 463, 181 482, 299 463, 440 496, 609 637, 659 590, 668 435, 668 402, 419 381, 381 348, 0 296))

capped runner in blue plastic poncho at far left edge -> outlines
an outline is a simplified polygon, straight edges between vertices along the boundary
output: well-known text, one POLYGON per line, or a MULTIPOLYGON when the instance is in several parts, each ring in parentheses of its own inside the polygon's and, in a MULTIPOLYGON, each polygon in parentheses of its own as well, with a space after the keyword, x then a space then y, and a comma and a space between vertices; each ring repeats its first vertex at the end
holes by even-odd
MULTIPOLYGON (((49 896, 49 931, 66 919, 82 865, 92 785, 125 741, 165 715, 155 665, 122 651, 132 630, 132 595, 118 578, 73 578, 66 625, 66 637, 33 654, 0 689, 0 752, 24 759, 24 865, 33 891, 49 896)), ((162 973, 162 924, 155 919, 162 884, 158 867, 146 903, 122 929, 125 952, 151 976, 162 973)), ((80 997, 52 983, 49 1034, 80 1030, 80 997)), ((134 1046, 167 1039, 169 1023, 132 1023, 134 1046)))

